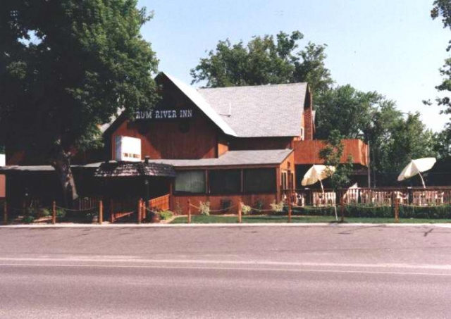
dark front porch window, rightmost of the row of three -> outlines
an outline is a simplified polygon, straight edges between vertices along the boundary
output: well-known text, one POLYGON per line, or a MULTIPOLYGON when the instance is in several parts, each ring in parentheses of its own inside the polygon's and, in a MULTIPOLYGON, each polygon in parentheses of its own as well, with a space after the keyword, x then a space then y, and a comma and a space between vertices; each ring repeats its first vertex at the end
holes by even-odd
POLYGON ((276 168, 244 170, 243 191, 247 193, 276 192, 276 168))

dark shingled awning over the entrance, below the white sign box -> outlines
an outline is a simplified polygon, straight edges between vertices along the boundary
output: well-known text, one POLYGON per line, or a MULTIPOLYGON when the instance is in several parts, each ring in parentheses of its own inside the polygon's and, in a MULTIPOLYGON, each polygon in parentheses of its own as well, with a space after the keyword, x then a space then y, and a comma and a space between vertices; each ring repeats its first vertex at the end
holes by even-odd
POLYGON ((173 165, 146 162, 101 163, 95 177, 175 177, 173 165))

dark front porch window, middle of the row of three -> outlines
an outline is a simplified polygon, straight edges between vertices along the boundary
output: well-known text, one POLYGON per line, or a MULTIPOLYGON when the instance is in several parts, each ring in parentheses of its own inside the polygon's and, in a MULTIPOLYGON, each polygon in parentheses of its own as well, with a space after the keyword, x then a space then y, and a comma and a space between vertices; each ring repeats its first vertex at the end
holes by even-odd
POLYGON ((238 194, 241 192, 240 170, 210 170, 209 188, 211 194, 238 194))

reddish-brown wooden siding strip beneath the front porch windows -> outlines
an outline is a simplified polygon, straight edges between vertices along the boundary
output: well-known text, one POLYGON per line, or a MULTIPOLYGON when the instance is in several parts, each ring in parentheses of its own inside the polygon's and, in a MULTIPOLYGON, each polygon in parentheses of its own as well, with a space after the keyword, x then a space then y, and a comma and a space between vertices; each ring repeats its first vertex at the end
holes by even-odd
MULTIPOLYGON (((182 214, 187 214, 187 201, 191 200, 191 204, 199 207, 200 201, 209 201, 210 209, 212 211, 220 210, 221 199, 230 199, 232 201, 232 207, 228 213, 236 214, 238 213, 237 208, 240 203, 240 199, 245 205, 252 206, 255 208, 257 201, 261 201, 264 204, 263 209, 270 209, 270 204, 276 201, 278 198, 277 194, 242 194, 242 195, 173 195, 171 196, 171 208, 173 211, 177 212, 177 207, 180 206, 182 214)), ((193 215, 198 215, 199 211, 196 208, 191 208, 191 213, 193 215)))

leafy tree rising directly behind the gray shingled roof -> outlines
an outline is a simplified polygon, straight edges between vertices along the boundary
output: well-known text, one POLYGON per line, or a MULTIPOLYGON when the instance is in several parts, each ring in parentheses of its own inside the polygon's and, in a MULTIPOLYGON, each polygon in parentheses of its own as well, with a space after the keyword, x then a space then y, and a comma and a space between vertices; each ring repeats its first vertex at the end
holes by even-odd
POLYGON ((253 37, 244 44, 230 40, 218 42, 216 50, 191 70, 192 83, 204 82, 205 87, 267 85, 309 82, 313 92, 326 90, 332 85, 326 68, 326 45, 309 43, 298 51, 298 42, 304 37, 295 31, 291 35, 279 32, 253 37))

